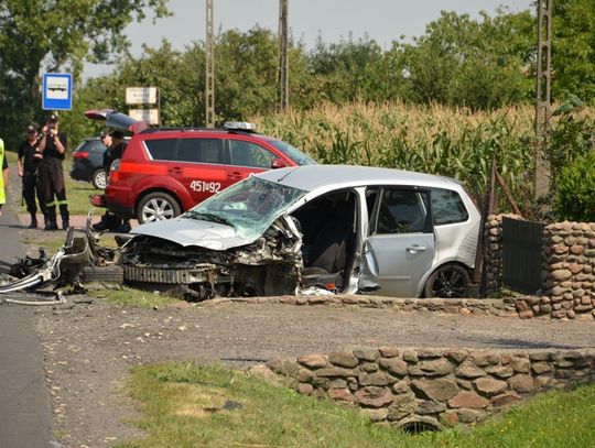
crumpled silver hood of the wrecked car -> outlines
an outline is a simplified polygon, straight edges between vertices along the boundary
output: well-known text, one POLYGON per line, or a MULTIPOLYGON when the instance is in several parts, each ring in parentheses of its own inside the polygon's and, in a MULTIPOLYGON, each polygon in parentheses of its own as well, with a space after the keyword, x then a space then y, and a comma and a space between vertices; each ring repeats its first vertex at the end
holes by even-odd
POLYGON ((141 225, 131 233, 161 238, 183 247, 198 245, 216 251, 225 251, 252 242, 242 238, 230 226, 183 217, 141 225))

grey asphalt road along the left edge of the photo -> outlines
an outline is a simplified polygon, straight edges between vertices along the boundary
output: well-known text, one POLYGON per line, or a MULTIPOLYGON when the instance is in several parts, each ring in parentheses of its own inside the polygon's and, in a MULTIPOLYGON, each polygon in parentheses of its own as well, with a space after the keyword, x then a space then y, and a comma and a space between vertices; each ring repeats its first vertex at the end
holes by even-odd
MULTIPOLYGON (((17 218, 6 207, 0 216, 0 273, 18 255, 17 218)), ((0 447, 56 447, 52 442, 50 400, 43 372, 43 350, 32 307, 0 305, 0 447)))

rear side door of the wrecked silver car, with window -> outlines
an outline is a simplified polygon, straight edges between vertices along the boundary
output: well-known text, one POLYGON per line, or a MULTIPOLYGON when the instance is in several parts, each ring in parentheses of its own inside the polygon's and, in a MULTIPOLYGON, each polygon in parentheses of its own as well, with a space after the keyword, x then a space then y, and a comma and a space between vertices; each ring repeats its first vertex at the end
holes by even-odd
POLYGON ((364 244, 360 291, 418 296, 436 251, 430 204, 429 190, 401 186, 378 190, 364 244))

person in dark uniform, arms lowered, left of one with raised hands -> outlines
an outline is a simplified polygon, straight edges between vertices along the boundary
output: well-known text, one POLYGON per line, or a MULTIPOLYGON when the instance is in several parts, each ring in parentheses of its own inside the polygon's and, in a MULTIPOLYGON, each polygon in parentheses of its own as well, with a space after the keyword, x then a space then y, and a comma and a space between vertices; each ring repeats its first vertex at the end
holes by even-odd
POLYGON ((47 210, 43 200, 43 185, 41 182, 40 164, 43 159, 37 149, 37 130, 33 125, 26 128, 26 140, 19 146, 19 159, 17 166, 19 177, 23 178, 23 197, 26 203, 26 211, 31 215, 30 229, 37 228, 37 206, 35 196, 40 203, 40 210, 43 214, 45 226, 47 226, 47 210))

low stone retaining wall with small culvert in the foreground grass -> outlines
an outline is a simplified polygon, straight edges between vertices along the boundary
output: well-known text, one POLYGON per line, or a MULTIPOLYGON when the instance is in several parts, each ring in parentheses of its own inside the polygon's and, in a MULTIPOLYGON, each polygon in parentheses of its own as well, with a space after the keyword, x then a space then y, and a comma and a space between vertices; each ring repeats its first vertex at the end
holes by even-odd
POLYGON ((303 394, 398 427, 470 424, 551 389, 595 380, 595 349, 486 351, 355 347, 267 365, 303 394))

